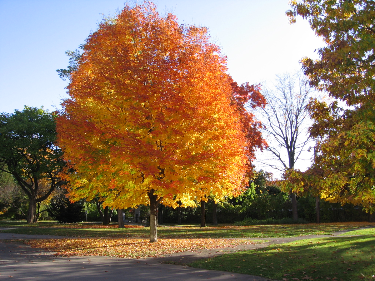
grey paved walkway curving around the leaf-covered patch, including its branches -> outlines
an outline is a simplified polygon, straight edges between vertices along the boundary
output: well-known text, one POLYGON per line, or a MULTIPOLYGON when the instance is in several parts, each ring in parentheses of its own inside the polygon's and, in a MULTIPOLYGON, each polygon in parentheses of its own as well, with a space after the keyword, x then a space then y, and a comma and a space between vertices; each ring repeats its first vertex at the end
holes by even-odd
MULTIPOLYGON (((347 232, 347 231, 344 231, 347 232)), ((339 235, 344 232, 333 233, 339 235)), ((256 245, 239 245, 233 248, 199 250, 175 253, 163 258, 123 259, 102 256, 57 257, 53 252, 31 248, 17 241, 0 242, 0 280, 30 281, 268 281, 268 279, 231 272, 190 268, 184 263, 216 256, 223 253, 266 247, 305 238, 332 237, 332 235, 309 235, 291 238, 259 238, 256 245), (172 261, 181 265, 165 264, 172 261)), ((0 239, 46 239, 64 238, 51 235, 21 235, 0 233, 0 239)), ((254 240, 255 238, 250 238, 254 240)))

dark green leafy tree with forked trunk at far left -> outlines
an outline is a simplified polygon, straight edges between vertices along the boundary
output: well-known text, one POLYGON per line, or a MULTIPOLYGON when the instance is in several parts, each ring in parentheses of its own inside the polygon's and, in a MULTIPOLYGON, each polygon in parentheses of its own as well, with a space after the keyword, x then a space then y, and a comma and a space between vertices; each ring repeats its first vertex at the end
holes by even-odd
POLYGON ((65 162, 55 139, 55 116, 43 108, 0 114, 0 170, 12 174, 26 193, 27 223, 37 221, 40 202, 62 183, 58 173, 65 162))

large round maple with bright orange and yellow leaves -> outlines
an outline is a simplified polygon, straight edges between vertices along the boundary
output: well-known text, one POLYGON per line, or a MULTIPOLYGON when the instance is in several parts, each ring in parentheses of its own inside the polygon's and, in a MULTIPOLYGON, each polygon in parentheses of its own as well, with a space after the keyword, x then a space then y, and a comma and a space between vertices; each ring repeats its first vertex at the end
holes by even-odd
POLYGON ((152 3, 124 7, 89 36, 57 120, 72 200, 150 205, 154 242, 159 203, 191 206, 242 190, 263 141, 238 103, 264 98, 234 84, 209 41, 207 28, 179 25, 152 3))

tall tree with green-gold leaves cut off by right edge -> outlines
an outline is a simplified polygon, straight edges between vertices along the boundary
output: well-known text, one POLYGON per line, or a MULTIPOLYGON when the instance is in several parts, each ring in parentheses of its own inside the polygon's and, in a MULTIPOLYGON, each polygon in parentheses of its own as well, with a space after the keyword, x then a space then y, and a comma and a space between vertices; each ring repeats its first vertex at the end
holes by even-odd
MULTIPOLYGON (((309 105, 317 140, 315 162, 300 176, 321 196, 342 203, 375 203, 375 5, 374 1, 292 1, 291 22, 300 15, 324 38, 319 60, 304 58, 311 84, 332 101, 309 105), (307 179, 307 180, 306 180, 307 179)), ((307 185, 309 185, 307 184, 307 185)), ((306 186, 306 184, 305 184, 306 186)), ((301 185, 300 185, 301 187, 301 185)), ((303 187, 302 187, 303 189, 303 187)))

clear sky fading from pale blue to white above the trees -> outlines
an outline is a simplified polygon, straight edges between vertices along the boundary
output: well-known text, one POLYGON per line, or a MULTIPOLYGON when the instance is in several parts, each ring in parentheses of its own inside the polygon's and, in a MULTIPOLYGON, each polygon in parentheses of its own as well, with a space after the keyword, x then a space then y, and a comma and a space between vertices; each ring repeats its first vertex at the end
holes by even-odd
MULTIPOLYGON (((229 58, 229 72, 240 83, 271 81, 275 74, 300 69, 303 56, 323 45, 300 19, 290 25, 288 0, 158 0, 181 23, 204 25, 229 58)), ((0 0, 0 112, 24 105, 60 108, 66 81, 56 69, 68 65, 74 50, 96 30, 102 14, 122 9, 117 0, 0 0)))

